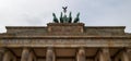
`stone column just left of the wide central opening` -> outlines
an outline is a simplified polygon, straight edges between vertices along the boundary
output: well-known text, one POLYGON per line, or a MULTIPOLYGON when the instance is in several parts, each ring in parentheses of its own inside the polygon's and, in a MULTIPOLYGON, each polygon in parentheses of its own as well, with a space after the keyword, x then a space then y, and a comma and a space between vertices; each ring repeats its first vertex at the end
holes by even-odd
POLYGON ((46 61, 55 61, 55 52, 52 48, 47 48, 46 61))

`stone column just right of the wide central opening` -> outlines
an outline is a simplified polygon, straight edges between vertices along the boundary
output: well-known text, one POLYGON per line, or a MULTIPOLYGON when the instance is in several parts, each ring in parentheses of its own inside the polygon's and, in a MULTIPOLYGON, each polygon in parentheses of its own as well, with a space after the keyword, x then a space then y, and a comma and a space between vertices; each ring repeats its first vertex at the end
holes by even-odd
POLYGON ((76 54, 76 61, 86 61, 85 49, 80 48, 76 54))

